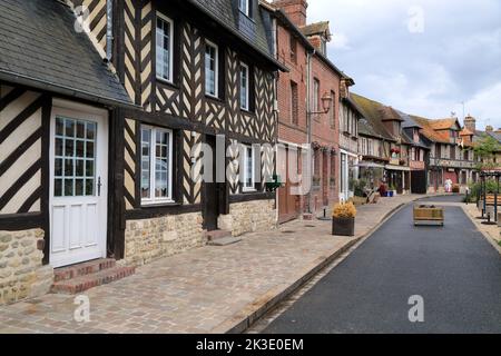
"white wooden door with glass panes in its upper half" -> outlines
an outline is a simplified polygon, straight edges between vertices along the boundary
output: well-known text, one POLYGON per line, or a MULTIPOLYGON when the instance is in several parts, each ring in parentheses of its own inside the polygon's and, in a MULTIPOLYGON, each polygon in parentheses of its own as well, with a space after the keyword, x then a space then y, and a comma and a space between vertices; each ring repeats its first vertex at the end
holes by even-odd
POLYGON ((108 115, 55 101, 50 138, 50 264, 106 257, 108 115))

